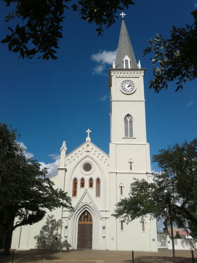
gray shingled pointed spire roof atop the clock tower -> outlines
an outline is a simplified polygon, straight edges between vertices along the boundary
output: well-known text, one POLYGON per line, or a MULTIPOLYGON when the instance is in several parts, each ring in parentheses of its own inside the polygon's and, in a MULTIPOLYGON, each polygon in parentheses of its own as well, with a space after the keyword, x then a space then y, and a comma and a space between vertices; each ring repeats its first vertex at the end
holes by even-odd
POLYGON ((118 42, 118 50, 115 63, 117 68, 124 68, 123 59, 125 55, 127 55, 131 59, 130 68, 137 68, 136 58, 133 52, 131 41, 129 39, 125 21, 124 18, 122 18, 120 38, 118 42))

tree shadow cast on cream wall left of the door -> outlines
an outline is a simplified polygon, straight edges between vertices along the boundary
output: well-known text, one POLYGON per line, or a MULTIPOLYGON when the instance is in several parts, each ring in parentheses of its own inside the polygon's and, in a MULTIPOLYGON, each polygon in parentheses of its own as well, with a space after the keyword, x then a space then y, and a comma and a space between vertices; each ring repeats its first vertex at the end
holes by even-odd
MULTIPOLYGON (((36 249, 69 249, 71 245, 67 240, 60 240, 61 220, 56 221, 54 215, 48 215, 46 225, 44 225, 40 234, 34 236, 36 239, 36 249)), ((63 234, 63 231, 62 231, 63 234)))

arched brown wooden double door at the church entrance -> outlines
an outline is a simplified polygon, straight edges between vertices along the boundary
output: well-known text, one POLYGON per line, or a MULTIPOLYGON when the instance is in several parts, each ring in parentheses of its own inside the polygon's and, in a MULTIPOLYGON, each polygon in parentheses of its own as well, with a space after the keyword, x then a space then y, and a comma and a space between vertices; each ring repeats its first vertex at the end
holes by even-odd
POLYGON ((92 249, 92 217, 85 211, 79 218, 78 249, 92 249))

